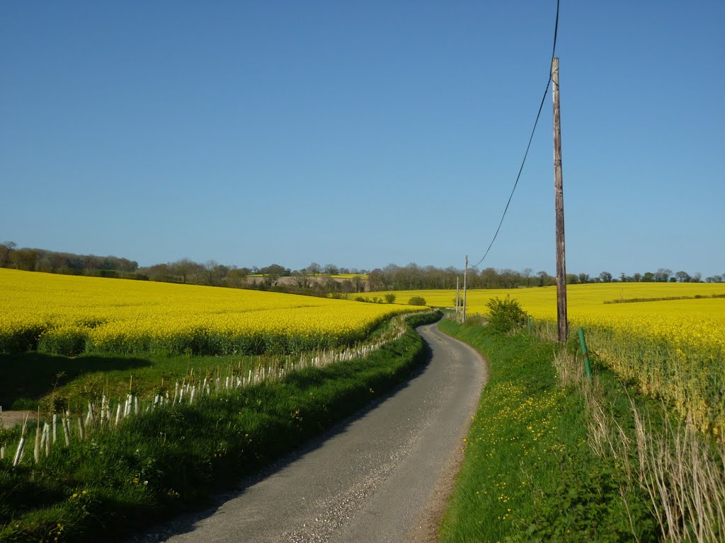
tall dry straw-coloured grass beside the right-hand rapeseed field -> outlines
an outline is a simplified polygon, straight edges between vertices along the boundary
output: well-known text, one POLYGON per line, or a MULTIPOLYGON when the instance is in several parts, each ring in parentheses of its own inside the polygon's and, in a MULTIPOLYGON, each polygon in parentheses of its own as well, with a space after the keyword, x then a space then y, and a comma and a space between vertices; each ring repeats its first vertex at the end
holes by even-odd
MULTIPOLYGON (((725 540, 725 447, 703 437, 691 418, 676 420, 664 405, 651 413, 631 396, 630 420, 624 421, 615 416, 611 393, 600 379, 584 376, 577 355, 560 350, 554 364, 560 384, 584 397, 589 447, 600 458, 612 459, 627 484, 647 492, 663 539, 725 540)), ((629 396, 624 387, 614 393, 629 396)), ((621 494, 624 499, 626 489, 621 494)))

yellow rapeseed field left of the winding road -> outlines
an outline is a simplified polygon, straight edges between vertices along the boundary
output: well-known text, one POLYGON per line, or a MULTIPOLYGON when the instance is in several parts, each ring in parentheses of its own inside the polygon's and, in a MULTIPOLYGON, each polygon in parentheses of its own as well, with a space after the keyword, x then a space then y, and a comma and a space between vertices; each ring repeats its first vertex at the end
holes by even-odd
POLYGON ((297 353, 420 307, 0 269, 0 351, 297 353))

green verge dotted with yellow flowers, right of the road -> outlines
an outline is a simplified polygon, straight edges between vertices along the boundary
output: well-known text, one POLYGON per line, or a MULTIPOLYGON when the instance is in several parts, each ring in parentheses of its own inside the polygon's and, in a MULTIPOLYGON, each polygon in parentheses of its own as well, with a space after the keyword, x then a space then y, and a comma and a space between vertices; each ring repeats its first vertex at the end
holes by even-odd
MULTIPOLYGON (((584 398, 560 386, 554 343, 476 324, 442 321, 440 328, 484 353, 490 365, 442 542, 659 539, 650 497, 589 447, 584 398)), ((626 391, 597 370, 624 420, 626 391)))

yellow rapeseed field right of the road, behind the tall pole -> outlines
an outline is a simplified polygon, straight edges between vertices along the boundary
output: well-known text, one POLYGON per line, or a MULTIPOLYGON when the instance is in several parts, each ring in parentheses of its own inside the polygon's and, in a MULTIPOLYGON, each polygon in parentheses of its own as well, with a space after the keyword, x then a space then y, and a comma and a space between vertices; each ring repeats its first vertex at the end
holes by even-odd
MULTIPOLYGON (((452 290, 394 293, 399 300, 422 296, 429 306, 455 304, 452 290)), ((485 314, 489 300, 507 295, 553 332, 556 287, 470 290, 468 314, 485 314)), ((568 285, 570 334, 583 327, 598 359, 637 382, 642 392, 692 416, 703 432, 725 440, 725 298, 706 298, 713 295, 725 295, 725 283, 568 285), (651 301, 605 303, 634 299, 651 301)))

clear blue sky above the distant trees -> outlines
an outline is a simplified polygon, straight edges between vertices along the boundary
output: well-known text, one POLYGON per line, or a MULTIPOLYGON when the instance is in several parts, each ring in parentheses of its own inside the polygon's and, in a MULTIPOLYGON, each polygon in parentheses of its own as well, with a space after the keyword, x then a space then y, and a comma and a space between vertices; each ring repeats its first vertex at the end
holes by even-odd
MULTIPOLYGON (((0 3, 0 241, 292 269, 483 256, 550 1, 0 3)), ((569 272, 725 274, 725 2, 561 2, 569 272)), ((555 273, 552 104, 482 267, 555 273)))

